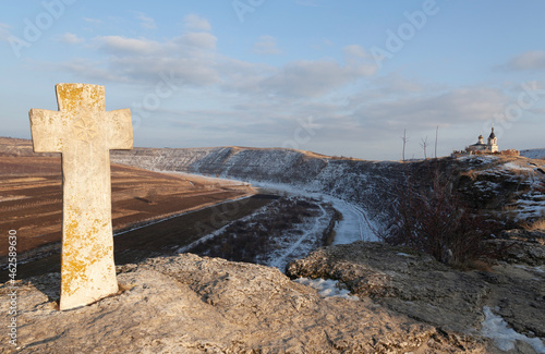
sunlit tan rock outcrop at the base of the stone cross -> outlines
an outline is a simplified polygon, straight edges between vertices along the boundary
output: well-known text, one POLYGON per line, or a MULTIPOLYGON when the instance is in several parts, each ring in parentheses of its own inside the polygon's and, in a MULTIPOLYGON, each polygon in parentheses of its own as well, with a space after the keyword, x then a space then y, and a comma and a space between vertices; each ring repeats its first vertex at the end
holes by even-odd
MULTIPOLYGON (((20 349, 2 353, 483 353, 360 301, 320 297, 275 268, 191 254, 118 268, 123 293, 57 308, 59 274, 19 283, 20 349)), ((9 291, 3 285, 2 296, 9 291)), ((8 303, 0 310, 8 313, 8 303)))

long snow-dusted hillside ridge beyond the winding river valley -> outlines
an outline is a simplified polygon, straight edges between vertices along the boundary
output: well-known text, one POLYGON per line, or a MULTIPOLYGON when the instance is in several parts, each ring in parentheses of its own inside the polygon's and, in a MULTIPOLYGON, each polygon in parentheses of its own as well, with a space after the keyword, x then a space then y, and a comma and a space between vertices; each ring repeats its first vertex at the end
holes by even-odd
POLYGON ((116 151, 112 161, 157 171, 177 171, 275 184, 299 193, 317 193, 364 206, 380 216, 385 199, 401 181, 404 166, 336 159, 292 149, 239 147, 134 149, 116 151))

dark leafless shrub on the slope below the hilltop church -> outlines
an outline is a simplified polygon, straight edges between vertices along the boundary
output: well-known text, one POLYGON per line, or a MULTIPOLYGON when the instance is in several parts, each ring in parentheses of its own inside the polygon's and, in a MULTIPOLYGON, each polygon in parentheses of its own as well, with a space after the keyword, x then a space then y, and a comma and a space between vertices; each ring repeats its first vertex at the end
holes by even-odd
POLYGON ((453 187, 453 178, 434 161, 427 172, 409 176, 397 187, 393 219, 382 239, 433 255, 448 264, 468 264, 489 256, 483 241, 493 233, 495 222, 471 212, 453 187), (422 180, 423 179, 423 180, 422 180))

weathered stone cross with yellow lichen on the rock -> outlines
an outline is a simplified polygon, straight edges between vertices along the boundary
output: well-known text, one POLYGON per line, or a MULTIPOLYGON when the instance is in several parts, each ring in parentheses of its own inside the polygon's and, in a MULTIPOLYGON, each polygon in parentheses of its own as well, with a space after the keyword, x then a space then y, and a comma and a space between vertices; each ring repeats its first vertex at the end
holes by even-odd
POLYGON ((60 309, 118 292, 111 227, 110 149, 131 149, 131 111, 107 112, 104 86, 58 84, 59 111, 32 109, 35 152, 62 154, 60 309))

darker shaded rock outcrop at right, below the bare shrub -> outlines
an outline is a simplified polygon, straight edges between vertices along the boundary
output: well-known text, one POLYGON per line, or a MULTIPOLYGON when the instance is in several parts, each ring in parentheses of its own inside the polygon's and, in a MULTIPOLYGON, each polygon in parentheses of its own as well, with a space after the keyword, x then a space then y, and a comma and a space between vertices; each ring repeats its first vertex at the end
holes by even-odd
POLYGON ((407 248, 356 242, 317 249, 288 265, 287 274, 339 280, 361 298, 446 332, 479 335, 487 306, 517 332, 543 339, 544 270, 500 263, 491 271, 457 271, 407 248))

